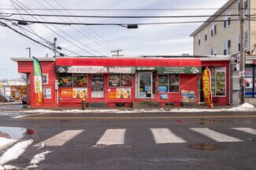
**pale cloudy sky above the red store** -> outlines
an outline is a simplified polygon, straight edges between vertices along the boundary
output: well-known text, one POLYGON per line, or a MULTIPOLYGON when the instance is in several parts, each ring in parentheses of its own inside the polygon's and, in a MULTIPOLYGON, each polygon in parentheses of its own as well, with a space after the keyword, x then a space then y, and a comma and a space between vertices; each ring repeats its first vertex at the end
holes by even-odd
MULTIPOLYGON (((114 53, 111 51, 117 49, 122 49, 123 51, 121 52, 121 54, 124 56, 180 56, 182 53, 188 53, 190 55, 193 55, 192 38, 189 37, 189 35, 193 31, 195 31, 195 29, 200 26, 200 24, 152 25, 152 23, 206 20, 206 17, 113 19, 84 17, 67 18, 49 16, 21 17, 18 14, 64 14, 69 16, 212 15, 216 11, 216 9, 224 5, 225 2, 228 2, 228 0, 215 0, 214 3, 206 0, 2 0, 0 2, 0 14, 2 14, 1 17, 6 17, 8 19, 87 24, 151 24, 139 25, 139 29, 128 30, 125 27, 113 25, 65 26, 50 24, 29 24, 29 26, 14 26, 12 23, 4 19, 1 19, 0 21, 8 24, 9 27, 20 31, 22 34, 28 35, 29 37, 35 39, 38 42, 41 42, 43 45, 46 45, 48 47, 51 47, 50 42, 54 42, 54 38, 58 38, 57 44, 58 46, 62 47, 60 52, 64 53, 67 56, 112 56, 114 53), (67 11, 65 9, 83 10, 67 11), (3 13, 14 13, 14 15, 6 16, 3 13)), ((12 31, 9 27, 0 27, 0 80, 3 78, 11 79, 19 77, 19 74, 17 73, 17 63, 10 60, 10 57, 28 57, 29 52, 28 49, 26 49, 28 47, 31 48, 32 56, 35 57, 46 55, 51 57, 54 55, 54 52, 52 50, 47 49, 46 47, 43 47, 42 45, 39 45, 35 42, 32 42, 28 38, 24 38, 22 35, 12 31)))

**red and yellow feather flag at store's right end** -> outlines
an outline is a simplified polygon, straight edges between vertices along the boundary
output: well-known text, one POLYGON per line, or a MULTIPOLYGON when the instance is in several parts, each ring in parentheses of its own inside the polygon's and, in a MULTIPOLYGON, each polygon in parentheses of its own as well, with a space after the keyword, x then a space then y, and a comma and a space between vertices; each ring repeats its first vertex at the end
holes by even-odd
POLYGON ((206 106, 209 108, 213 107, 210 69, 208 67, 202 72, 202 92, 206 106))

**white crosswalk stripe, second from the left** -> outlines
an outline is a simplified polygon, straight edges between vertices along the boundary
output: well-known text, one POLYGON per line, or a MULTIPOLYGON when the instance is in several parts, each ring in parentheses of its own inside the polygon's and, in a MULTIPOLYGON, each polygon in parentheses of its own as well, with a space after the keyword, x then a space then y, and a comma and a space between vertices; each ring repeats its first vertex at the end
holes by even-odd
POLYGON ((107 129, 96 145, 122 145, 124 144, 125 128, 107 129))

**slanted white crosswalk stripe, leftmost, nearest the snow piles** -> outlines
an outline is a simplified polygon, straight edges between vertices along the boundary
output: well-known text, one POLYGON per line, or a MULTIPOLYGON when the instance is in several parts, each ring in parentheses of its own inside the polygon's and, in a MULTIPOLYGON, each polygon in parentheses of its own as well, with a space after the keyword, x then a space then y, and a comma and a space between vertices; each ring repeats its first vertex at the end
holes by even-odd
POLYGON ((46 146, 62 146, 64 143, 68 142, 70 139, 77 136, 78 134, 80 134, 80 132, 83 131, 84 130, 67 130, 59 133, 56 136, 46 139, 43 142, 38 143, 34 146, 41 146, 42 143, 45 143, 46 146))

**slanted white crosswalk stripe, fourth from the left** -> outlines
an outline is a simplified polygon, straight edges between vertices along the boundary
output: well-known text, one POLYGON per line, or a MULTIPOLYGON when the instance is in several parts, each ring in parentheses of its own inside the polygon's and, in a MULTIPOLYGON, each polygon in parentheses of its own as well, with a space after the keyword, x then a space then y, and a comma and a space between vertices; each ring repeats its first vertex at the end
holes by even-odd
POLYGON ((209 137, 210 139, 213 139, 217 142, 243 142, 243 140, 231 137, 231 136, 226 136, 222 133, 215 132, 213 130, 210 130, 209 128, 190 128, 192 131, 201 133, 204 136, 209 137))

